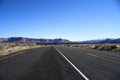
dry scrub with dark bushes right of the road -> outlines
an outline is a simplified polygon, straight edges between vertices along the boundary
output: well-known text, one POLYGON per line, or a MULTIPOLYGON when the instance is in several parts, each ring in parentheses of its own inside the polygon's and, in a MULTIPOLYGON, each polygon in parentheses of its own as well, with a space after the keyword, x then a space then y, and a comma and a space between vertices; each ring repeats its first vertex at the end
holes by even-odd
POLYGON ((64 46, 82 48, 82 49, 96 49, 96 50, 120 53, 120 44, 67 44, 64 46))

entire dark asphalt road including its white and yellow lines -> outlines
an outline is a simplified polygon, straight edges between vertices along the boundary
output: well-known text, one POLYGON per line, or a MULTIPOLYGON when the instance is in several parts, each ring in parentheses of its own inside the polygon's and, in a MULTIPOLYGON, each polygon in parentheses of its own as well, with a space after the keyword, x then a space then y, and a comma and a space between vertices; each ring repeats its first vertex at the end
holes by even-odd
POLYGON ((0 80, 120 80, 120 55, 66 47, 31 49, 1 58, 0 80))

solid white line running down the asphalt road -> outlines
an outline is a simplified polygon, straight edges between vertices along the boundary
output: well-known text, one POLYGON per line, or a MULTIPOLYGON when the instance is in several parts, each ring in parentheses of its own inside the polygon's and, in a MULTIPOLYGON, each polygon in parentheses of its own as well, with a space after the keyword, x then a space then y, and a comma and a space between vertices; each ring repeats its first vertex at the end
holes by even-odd
POLYGON ((63 58, 65 58, 65 60, 68 61, 68 63, 69 63, 73 68, 75 68, 75 70, 76 70, 85 80, 89 80, 67 57, 65 57, 65 56, 63 55, 63 53, 62 53, 60 50, 58 50, 55 46, 54 46, 54 48, 62 55, 63 58))

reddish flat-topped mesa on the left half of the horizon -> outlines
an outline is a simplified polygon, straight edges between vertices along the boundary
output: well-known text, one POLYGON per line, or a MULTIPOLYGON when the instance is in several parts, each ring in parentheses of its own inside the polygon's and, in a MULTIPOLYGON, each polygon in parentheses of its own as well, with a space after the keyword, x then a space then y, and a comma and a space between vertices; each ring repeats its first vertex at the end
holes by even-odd
POLYGON ((34 39, 24 37, 0 38, 0 43, 68 43, 67 39, 34 39))

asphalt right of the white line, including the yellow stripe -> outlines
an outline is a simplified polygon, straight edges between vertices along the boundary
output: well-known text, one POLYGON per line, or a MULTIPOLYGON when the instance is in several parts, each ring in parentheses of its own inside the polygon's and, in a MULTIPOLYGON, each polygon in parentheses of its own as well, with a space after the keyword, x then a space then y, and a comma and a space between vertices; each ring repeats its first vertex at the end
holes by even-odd
POLYGON ((120 80, 120 55, 112 57, 108 52, 79 48, 58 49, 90 80, 120 80))

